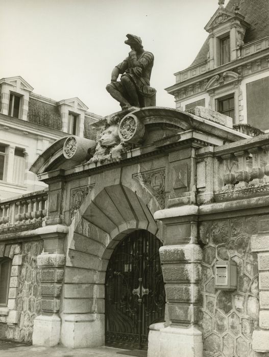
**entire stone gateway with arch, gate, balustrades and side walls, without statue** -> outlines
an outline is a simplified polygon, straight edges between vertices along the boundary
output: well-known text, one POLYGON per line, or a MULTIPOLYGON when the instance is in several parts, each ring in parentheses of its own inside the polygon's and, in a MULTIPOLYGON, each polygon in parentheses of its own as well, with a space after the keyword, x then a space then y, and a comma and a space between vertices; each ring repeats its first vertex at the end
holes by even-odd
POLYGON ((1 203, 2 336, 156 357, 269 352, 269 134, 195 111, 116 113, 87 163, 95 143, 74 136, 40 155, 31 171, 48 191, 1 203))

